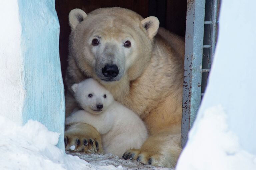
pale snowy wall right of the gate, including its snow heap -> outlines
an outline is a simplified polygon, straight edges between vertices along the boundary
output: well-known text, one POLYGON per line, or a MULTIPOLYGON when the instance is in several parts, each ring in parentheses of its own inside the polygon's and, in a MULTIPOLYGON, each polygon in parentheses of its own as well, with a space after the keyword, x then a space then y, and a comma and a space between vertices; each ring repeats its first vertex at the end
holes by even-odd
POLYGON ((176 170, 256 170, 255 6, 221 1, 208 86, 176 170))

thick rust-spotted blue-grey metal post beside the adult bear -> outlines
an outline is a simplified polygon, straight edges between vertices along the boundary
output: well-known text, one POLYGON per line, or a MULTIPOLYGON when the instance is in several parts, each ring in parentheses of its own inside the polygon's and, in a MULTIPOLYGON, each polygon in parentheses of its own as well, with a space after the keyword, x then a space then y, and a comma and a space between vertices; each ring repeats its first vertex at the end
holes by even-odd
POLYGON ((187 1, 181 145, 185 146, 201 102, 205 0, 187 1))

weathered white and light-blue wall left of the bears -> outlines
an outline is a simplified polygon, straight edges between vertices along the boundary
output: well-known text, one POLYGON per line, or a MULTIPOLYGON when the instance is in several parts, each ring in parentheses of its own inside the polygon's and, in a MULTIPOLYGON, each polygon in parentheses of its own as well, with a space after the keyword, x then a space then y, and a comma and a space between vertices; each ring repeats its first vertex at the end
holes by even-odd
POLYGON ((0 109, 18 124, 38 120, 59 132, 64 149, 65 102, 55 1, 0 3, 0 109), (3 17, 5 16, 5 17, 3 17))

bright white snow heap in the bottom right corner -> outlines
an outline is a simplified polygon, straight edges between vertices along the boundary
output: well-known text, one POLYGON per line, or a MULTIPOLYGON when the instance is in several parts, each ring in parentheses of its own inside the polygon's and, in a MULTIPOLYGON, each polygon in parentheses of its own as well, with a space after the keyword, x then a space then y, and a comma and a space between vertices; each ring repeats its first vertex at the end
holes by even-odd
POLYGON ((240 148, 221 105, 206 109, 195 123, 176 170, 256 169, 256 156, 240 148))

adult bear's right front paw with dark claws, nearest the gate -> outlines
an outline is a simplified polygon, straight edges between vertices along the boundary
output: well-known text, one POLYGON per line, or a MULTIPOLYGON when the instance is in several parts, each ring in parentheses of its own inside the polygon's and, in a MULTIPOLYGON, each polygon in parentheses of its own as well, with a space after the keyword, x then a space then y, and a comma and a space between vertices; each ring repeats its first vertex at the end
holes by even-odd
POLYGON ((153 152, 142 151, 139 149, 131 149, 126 151, 122 158, 123 159, 134 159, 146 165, 161 166, 159 164, 161 154, 153 152))

